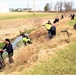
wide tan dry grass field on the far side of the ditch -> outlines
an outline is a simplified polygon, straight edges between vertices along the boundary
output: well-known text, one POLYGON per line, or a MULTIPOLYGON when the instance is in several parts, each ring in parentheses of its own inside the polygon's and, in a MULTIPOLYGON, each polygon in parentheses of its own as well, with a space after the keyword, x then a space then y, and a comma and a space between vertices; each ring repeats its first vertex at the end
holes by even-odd
POLYGON ((16 37, 21 32, 25 30, 37 28, 43 23, 47 22, 47 19, 43 18, 29 18, 29 19, 12 19, 12 20, 3 20, 0 21, 0 42, 5 38, 9 37, 10 39, 16 37), (3 37, 2 37, 3 36, 3 37))

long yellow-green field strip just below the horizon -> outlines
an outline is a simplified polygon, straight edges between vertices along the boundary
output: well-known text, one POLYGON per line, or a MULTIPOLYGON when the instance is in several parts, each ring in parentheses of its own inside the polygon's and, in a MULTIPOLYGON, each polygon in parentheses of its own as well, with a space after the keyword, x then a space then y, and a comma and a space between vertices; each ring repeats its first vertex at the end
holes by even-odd
POLYGON ((15 18, 32 18, 32 17, 48 17, 48 16, 58 16, 60 13, 26 13, 26 12, 10 12, 10 13, 0 13, 0 20, 15 19, 15 18))

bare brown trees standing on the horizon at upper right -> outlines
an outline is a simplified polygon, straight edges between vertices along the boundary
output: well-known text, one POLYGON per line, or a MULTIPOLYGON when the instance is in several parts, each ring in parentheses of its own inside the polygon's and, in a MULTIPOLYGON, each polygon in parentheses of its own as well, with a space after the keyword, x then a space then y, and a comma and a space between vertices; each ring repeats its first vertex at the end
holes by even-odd
POLYGON ((72 1, 70 2, 57 1, 54 5, 53 3, 46 3, 44 11, 69 12, 69 11, 76 11, 76 8, 74 8, 74 2, 72 1))

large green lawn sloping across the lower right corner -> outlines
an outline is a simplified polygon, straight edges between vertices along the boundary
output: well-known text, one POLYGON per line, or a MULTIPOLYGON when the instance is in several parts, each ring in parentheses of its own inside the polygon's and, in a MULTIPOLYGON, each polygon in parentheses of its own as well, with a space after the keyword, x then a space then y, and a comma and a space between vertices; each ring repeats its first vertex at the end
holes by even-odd
POLYGON ((76 75, 76 42, 56 54, 52 60, 36 64, 20 75, 76 75))

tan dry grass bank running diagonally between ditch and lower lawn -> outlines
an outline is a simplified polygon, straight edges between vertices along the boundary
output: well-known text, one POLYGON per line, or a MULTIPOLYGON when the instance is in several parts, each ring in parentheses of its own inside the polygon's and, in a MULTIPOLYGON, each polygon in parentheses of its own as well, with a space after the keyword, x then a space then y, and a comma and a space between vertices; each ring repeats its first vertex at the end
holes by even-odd
MULTIPOLYGON (((46 22, 46 20, 47 19, 45 19, 45 22, 46 22)), ((56 51, 58 49, 63 49, 63 48, 65 48, 66 45, 68 45, 68 43, 75 41, 76 31, 73 30, 72 27, 65 25, 65 23, 68 20, 69 19, 64 19, 56 24, 57 36, 51 40, 48 40, 48 38, 47 38, 46 28, 39 25, 40 28, 37 30, 34 30, 29 35, 30 38, 32 38, 32 40, 33 40, 33 44, 29 45, 27 47, 20 48, 14 55, 15 63, 10 66, 7 65, 4 72, 12 72, 14 70, 17 72, 20 72, 24 68, 27 69, 27 67, 28 68, 32 67, 32 65, 34 65, 36 62, 43 63, 54 55, 54 51, 56 51), (61 33, 61 30, 66 30, 67 28, 68 28, 68 32, 70 34, 69 37, 67 36, 66 33, 61 33), (10 67, 11 67, 11 69, 10 69, 10 67)), ((44 23, 44 21, 40 21, 40 22, 44 23)), ((35 25, 37 25, 37 24, 35 24, 35 25)), ((30 25, 30 27, 31 27, 31 25, 30 25)), ((21 25, 20 25, 20 29, 21 29, 21 25)), ((14 73, 14 74, 17 75, 18 73, 14 73)))

